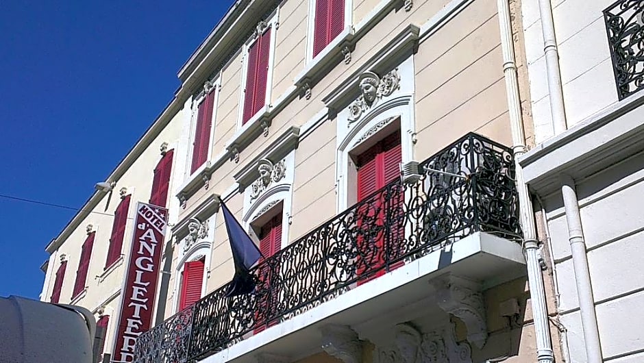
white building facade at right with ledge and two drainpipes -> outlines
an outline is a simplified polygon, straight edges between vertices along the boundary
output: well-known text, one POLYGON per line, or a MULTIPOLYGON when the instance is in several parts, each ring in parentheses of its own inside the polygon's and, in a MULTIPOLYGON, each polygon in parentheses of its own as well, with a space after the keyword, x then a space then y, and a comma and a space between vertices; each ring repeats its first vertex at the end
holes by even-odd
POLYGON ((569 362, 641 362, 641 1, 525 1, 536 147, 520 160, 552 251, 569 362), (545 51, 544 51, 545 49, 545 51))

